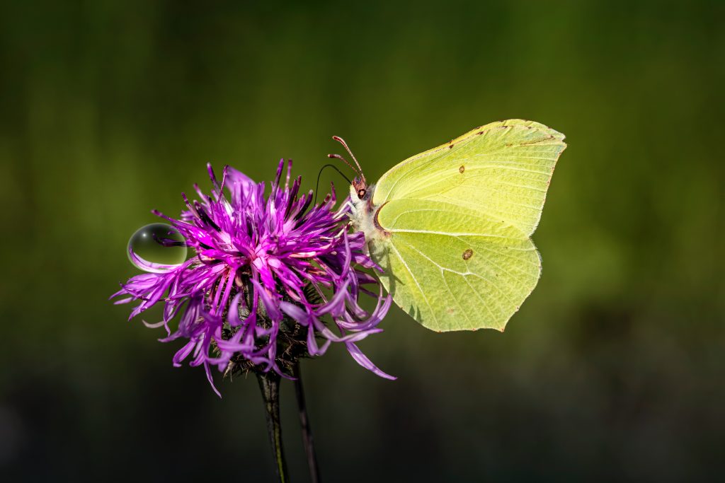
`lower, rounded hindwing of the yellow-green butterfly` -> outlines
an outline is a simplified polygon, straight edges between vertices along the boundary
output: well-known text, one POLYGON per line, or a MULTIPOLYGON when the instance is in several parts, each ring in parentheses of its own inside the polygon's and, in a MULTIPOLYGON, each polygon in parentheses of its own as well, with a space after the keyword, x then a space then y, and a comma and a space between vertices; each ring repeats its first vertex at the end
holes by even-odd
POLYGON ((381 208, 378 222, 386 235, 371 253, 384 268, 381 281, 429 329, 502 330, 539 280, 534 243, 479 212, 394 200, 381 208))

